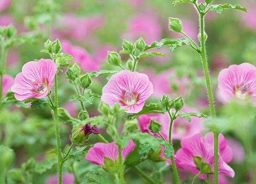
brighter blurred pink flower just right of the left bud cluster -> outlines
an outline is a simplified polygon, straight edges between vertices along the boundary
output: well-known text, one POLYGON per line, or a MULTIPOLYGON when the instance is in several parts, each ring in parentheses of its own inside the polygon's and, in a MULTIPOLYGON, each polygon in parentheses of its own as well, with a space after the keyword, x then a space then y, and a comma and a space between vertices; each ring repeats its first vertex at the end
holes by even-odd
POLYGON ((79 63, 82 70, 92 72, 100 70, 100 63, 95 62, 92 56, 83 48, 73 46, 68 40, 61 41, 62 51, 70 54, 74 62, 79 63))

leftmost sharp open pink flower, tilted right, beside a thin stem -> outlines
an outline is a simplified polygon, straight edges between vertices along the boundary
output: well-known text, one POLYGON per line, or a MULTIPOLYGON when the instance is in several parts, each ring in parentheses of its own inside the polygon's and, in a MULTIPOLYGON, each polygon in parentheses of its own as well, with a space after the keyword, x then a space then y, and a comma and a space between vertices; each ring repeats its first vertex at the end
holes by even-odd
POLYGON ((46 97, 56 71, 56 64, 50 59, 27 62, 22 67, 22 72, 16 75, 11 88, 15 98, 23 101, 33 97, 46 97))

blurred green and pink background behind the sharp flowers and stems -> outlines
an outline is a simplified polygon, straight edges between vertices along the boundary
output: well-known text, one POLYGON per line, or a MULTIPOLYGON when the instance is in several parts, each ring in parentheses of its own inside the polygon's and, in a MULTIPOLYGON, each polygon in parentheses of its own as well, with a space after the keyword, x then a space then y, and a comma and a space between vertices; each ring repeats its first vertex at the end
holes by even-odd
MULTIPOLYGON (((21 72, 24 63, 48 58, 47 54, 40 53, 48 38, 58 38, 62 44, 62 52, 71 54, 84 74, 101 69, 113 70, 113 66, 106 63, 107 51, 122 50, 123 39, 135 42, 143 37, 146 44, 150 45, 153 41, 160 41, 163 38, 182 38, 181 34, 168 30, 168 17, 180 18, 183 22, 183 31, 198 43, 198 14, 194 7, 186 3, 173 7, 172 2, 0 0, 0 26, 12 24, 18 35, 27 35, 31 38, 30 43, 14 45, 8 50, 6 73, 15 77, 21 72)), ((230 64, 256 64, 256 3, 254 0, 214 2, 219 3, 241 4, 248 10, 248 13, 225 10, 221 15, 209 12, 205 22, 208 35, 206 47, 217 114, 223 134, 230 140, 229 144, 233 148, 230 166, 236 176, 226 182, 249 183, 256 172, 256 146, 253 144, 256 141, 255 117, 251 118, 254 116, 251 114, 255 114, 255 107, 223 104, 223 99, 218 96, 217 76, 230 64)), ((199 111, 208 114, 200 56, 188 47, 178 48, 173 53, 168 47, 163 47, 157 52, 165 53, 165 57, 143 58, 137 68, 138 72, 146 73, 154 85, 154 97, 150 101, 158 102, 163 94, 169 95, 170 98, 181 95, 188 106, 197 107, 199 111), (166 88, 163 89, 161 85, 165 85, 166 88)), ((123 61, 128 59, 125 55, 121 56, 123 61)), ((72 117, 77 117, 79 104, 69 102, 69 97, 74 95, 75 89, 67 83, 64 73, 60 75, 60 106, 66 108, 72 117)), ((105 83, 106 80, 103 78, 94 79, 91 88, 101 95, 105 83)), ((99 114, 98 103, 99 100, 95 100, 93 105, 87 106, 91 117, 99 114)), ((207 127, 207 122, 205 126, 207 127)), ((34 172, 32 183, 38 184, 46 183, 46 180, 56 173, 56 167, 53 167, 53 160, 56 158, 52 154, 46 154, 55 147, 52 114, 49 108, 2 108, 0 128, 0 143, 12 148, 15 153, 14 164, 10 168, 27 169, 28 173, 24 176, 26 177, 26 174, 32 172, 28 168, 36 160, 39 164, 36 165, 37 170, 34 172)), ((62 145, 69 144, 71 126, 63 125, 61 134, 62 145)), ((95 141, 97 139, 92 136, 90 142, 95 141)), ((177 145, 179 147, 179 142, 177 145)), ((161 163, 155 163, 154 167, 158 168, 158 165, 161 163)), ((101 169, 82 159, 81 162, 65 163, 64 172, 69 173, 78 168, 77 175, 81 177, 90 170, 101 169)), ((16 171, 13 173, 17 175, 16 171)), ((164 174, 167 183, 171 174, 169 171, 165 171, 164 174)), ((152 177, 158 177, 155 175, 152 177)), ((72 178, 73 175, 67 174, 67 177, 72 178)), ((132 171, 127 175, 127 183, 142 182, 132 171)), ((23 182, 10 179, 9 183, 23 182)))

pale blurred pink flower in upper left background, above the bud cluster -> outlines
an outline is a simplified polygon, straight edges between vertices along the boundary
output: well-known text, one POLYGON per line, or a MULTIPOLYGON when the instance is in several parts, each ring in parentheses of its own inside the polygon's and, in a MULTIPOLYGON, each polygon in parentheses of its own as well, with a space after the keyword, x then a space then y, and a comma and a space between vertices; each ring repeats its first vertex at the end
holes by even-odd
POLYGON ((93 31, 104 25, 103 16, 83 16, 78 17, 73 14, 67 14, 64 19, 58 21, 59 28, 54 30, 53 37, 67 38, 78 42, 90 38, 93 31))

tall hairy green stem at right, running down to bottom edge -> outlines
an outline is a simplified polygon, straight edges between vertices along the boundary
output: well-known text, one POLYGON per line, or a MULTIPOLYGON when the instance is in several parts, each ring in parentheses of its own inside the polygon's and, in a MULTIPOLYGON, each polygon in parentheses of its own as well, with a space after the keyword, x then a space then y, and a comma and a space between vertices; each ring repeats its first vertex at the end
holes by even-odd
MULTIPOLYGON (((200 10, 198 9, 200 12, 200 10)), ((205 81, 207 86, 207 94, 209 99, 209 105, 210 105, 210 113, 212 120, 215 121, 216 118, 216 112, 214 108, 214 98, 212 96, 212 90, 211 90, 211 84, 210 84, 210 77, 209 77, 209 71, 208 71, 208 65, 207 65, 207 59, 206 59, 206 49, 205 49, 205 39, 204 39, 204 13, 200 12, 200 32, 201 32, 201 58, 204 68, 204 75, 205 75, 205 81)), ((215 123, 214 123, 215 124, 215 123)), ((219 133, 215 128, 212 128, 212 131, 214 132, 214 183, 218 184, 218 137, 219 133)))

